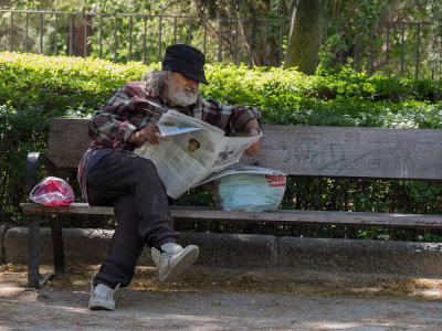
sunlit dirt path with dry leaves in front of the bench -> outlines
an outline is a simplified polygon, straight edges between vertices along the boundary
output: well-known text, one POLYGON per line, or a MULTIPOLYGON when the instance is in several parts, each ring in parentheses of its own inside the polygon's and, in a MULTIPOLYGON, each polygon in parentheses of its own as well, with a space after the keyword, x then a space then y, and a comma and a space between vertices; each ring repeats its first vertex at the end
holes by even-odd
POLYGON ((93 270, 70 266, 34 290, 23 266, 1 266, 0 330, 442 330, 434 279, 194 268, 162 285, 138 268, 106 312, 86 308, 93 270))

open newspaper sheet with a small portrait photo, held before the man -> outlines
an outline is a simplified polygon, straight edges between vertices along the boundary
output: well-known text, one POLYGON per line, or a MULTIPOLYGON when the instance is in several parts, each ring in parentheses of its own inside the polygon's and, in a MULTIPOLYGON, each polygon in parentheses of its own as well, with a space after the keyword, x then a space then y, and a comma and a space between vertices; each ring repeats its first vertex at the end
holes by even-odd
POLYGON ((180 196, 213 172, 238 163, 255 137, 225 137, 224 131, 200 119, 169 110, 158 120, 159 145, 144 143, 135 153, 157 167, 167 194, 180 196))

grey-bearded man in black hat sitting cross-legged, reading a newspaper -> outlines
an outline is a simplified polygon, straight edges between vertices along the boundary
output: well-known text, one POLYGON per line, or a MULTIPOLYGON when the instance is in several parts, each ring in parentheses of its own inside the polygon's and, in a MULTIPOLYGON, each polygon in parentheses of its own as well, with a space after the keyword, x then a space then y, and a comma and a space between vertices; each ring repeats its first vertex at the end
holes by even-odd
MULTIPOLYGON (((198 258, 197 246, 176 244, 178 234, 155 164, 131 152, 143 143, 159 143, 156 124, 161 114, 176 109, 230 136, 260 134, 257 108, 224 106, 198 96, 199 84, 209 84, 204 63, 206 56, 194 47, 169 46, 161 71, 149 73, 146 82, 119 87, 90 124, 93 142, 78 166, 78 180, 88 203, 114 206, 118 221, 108 256, 92 276, 90 309, 114 310, 115 289, 130 284, 145 245, 160 281, 177 279, 198 258)), ((244 153, 254 156, 260 148, 257 140, 244 153)))

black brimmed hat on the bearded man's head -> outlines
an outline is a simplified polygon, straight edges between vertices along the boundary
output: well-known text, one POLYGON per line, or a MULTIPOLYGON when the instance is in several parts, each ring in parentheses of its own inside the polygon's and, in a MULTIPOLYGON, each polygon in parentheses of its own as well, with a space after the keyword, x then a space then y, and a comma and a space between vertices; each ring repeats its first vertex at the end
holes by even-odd
POLYGON ((176 44, 166 49, 162 70, 181 73, 185 77, 209 85, 204 76, 206 56, 196 47, 176 44))

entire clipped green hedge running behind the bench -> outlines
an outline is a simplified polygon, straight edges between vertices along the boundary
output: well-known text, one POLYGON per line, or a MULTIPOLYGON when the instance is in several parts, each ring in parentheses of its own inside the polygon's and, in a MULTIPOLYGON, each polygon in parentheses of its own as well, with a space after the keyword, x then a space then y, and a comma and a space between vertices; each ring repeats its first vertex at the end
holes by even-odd
MULTIPOLYGON (((159 67, 159 63, 122 65, 94 58, 0 53, 1 218, 12 223, 21 218, 25 156, 45 150, 51 117, 91 116, 118 86, 143 79, 159 67)), ((347 67, 319 68, 316 76, 221 64, 207 65, 206 72, 211 84, 201 86, 202 96, 260 106, 266 124, 392 128, 441 128, 442 124, 442 89, 432 81, 367 76, 347 67)), ((283 207, 442 213, 441 191, 442 186, 432 183, 291 178, 283 207)), ((175 203, 211 204, 211 193, 192 190, 175 203)), ((269 228, 255 226, 252 232, 269 228)), ((284 226, 274 232, 294 234, 284 226)), ((316 228, 315 235, 329 232, 330 227, 316 228)), ((337 235, 347 234, 339 229, 337 235)), ((424 235, 428 233, 414 238, 428 239, 424 235)), ((381 237, 367 228, 355 229, 352 236, 381 237)))

